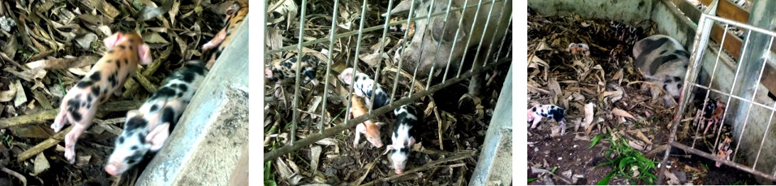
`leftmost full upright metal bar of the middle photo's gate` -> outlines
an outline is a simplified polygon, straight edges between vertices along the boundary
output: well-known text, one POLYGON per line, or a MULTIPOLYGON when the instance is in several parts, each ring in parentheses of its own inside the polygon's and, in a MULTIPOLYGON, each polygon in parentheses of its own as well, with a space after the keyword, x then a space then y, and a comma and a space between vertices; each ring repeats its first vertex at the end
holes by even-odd
POLYGON ((299 87, 300 87, 300 81, 302 80, 300 76, 300 71, 302 70, 302 57, 304 56, 304 53, 302 52, 302 38, 304 36, 304 13, 307 11, 307 0, 302 0, 302 11, 300 12, 299 16, 299 43, 296 45, 296 48, 299 49, 298 58, 296 60, 296 84, 294 85, 294 92, 293 92, 293 115, 292 115, 292 122, 291 122, 291 139, 289 140, 289 144, 293 144, 293 142, 296 140, 296 125, 299 124, 297 121, 299 119, 297 118, 297 115, 299 114, 299 87))

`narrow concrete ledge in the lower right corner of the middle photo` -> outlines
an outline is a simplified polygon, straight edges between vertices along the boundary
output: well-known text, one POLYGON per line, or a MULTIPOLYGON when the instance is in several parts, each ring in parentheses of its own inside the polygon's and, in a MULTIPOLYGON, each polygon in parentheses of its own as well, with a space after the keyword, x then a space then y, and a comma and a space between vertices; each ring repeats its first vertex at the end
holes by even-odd
POLYGON ((501 87, 469 185, 512 184, 512 69, 510 66, 501 87))

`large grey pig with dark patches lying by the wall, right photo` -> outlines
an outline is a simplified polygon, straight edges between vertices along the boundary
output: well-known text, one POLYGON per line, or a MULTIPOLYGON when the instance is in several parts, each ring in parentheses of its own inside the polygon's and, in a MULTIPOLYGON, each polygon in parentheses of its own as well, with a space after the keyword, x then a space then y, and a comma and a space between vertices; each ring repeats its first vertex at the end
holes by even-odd
MULTIPOLYGON (((636 42, 633 56, 636 68, 641 69, 644 77, 667 92, 663 96, 666 106, 674 106, 687 74, 690 53, 676 39, 655 35, 636 42)), ((652 93, 656 95, 660 91, 653 88, 652 93)))

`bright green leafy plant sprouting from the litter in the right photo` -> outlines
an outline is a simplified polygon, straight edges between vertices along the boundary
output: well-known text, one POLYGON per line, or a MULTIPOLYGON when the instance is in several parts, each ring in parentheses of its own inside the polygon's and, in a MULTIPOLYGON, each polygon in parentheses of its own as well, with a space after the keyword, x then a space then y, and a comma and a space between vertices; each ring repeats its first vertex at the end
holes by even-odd
MULTIPOLYGON (((596 165, 601 167, 608 164, 613 164, 611 172, 606 175, 598 184, 608 184, 611 178, 617 176, 620 178, 632 178, 641 179, 648 184, 654 184, 657 179, 655 174, 650 173, 654 171, 657 161, 652 161, 641 154, 639 150, 635 150, 628 145, 628 140, 624 137, 620 137, 619 134, 609 131, 606 140, 609 140, 609 150, 605 153, 606 157, 611 157, 611 154, 615 154, 615 159, 596 165)), ((600 136, 600 135, 599 135, 600 136)), ((631 184, 633 181, 631 181, 631 184)))

